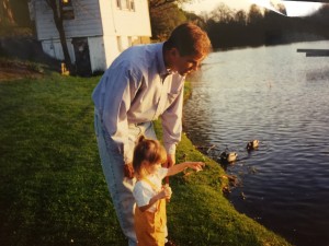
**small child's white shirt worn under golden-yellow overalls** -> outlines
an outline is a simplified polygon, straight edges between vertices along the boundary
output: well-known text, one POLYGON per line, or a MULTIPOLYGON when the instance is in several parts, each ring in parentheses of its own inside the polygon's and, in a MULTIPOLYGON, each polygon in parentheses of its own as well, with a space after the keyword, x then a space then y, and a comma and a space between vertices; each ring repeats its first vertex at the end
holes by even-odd
MULTIPOLYGON (((167 174, 168 168, 161 167, 157 173, 147 176, 147 179, 155 184, 155 186, 158 188, 158 191, 155 191, 152 187, 145 180, 136 181, 133 195, 138 207, 147 206, 149 203, 149 200, 161 190, 162 179, 167 176, 167 174)), ((156 212, 156 210, 157 202, 152 204, 147 211, 156 212)))

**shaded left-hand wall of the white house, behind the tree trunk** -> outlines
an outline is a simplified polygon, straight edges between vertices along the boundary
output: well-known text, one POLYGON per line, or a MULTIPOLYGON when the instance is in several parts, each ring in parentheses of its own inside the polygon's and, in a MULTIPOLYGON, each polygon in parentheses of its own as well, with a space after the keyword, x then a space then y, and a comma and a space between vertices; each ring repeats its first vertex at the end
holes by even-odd
MULTIPOLYGON (((59 42, 59 34, 55 26, 53 11, 45 0, 34 0, 34 16, 36 23, 37 39, 43 49, 49 56, 64 60, 64 54, 59 42)), ((71 61, 76 61, 73 37, 88 37, 90 63, 92 71, 105 70, 105 51, 103 42, 103 28, 98 0, 73 0, 75 19, 64 21, 64 30, 67 37, 67 46, 71 61)))

